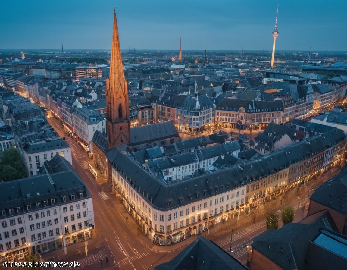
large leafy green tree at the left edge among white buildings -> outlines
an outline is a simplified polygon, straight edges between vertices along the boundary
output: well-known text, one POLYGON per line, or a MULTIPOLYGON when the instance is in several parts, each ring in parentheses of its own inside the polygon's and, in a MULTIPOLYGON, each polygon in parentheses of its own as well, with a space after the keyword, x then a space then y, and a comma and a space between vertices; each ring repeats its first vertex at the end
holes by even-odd
POLYGON ((3 151, 0 159, 0 182, 26 177, 25 164, 16 149, 3 151))

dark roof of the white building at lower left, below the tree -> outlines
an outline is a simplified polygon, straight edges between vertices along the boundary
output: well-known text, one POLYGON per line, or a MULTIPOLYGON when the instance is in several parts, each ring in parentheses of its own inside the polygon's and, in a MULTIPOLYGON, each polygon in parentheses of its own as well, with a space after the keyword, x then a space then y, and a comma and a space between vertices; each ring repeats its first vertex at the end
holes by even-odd
POLYGON ((91 197, 69 162, 57 154, 44 162, 39 175, 0 183, 0 210, 5 210, 8 217, 11 208, 20 206, 24 212, 36 211, 52 207, 51 199, 57 205, 79 200, 80 193, 84 199, 91 197), (44 201, 48 201, 47 206, 44 201), (37 208, 36 203, 41 206, 37 208), (31 210, 27 205, 31 205, 31 210))

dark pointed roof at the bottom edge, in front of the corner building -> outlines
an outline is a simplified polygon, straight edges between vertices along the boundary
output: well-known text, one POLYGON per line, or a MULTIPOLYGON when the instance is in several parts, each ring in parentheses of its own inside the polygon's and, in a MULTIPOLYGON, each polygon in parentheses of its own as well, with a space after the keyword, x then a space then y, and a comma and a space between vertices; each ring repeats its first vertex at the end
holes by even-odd
POLYGON ((155 270, 245 270, 242 263, 230 256, 218 245, 200 236, 183 251, 178 253, 174 259, 154 267, 155 270))

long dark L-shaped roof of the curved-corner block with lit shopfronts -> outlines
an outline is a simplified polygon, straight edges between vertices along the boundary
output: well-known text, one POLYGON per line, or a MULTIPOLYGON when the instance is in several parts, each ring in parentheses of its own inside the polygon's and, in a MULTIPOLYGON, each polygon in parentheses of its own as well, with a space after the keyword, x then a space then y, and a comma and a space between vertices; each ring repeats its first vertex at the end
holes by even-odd
POLYGON ((115 169, 126 177, 140 194, 147 197, 156 209, 168 210, 274 174, 289 167, 290 164, 307 159, 345 139, 346 136, 342 130, 333 128, 259 159, 243 160, 237 166, 233 165, 213 174, 205 174, 172 184, 160 181, 137 163, 131 154, 112 148, 108 150, 107 156, 115 169))

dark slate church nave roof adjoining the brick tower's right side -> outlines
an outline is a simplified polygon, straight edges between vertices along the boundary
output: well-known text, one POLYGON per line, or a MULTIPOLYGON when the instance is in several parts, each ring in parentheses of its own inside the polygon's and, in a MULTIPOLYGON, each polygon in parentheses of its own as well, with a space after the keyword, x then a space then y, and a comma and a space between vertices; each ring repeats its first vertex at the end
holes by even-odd
POLYGON ((130 146, 179 137, 172 121, 165 121, 130 129, 130 146))

